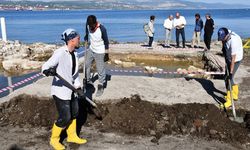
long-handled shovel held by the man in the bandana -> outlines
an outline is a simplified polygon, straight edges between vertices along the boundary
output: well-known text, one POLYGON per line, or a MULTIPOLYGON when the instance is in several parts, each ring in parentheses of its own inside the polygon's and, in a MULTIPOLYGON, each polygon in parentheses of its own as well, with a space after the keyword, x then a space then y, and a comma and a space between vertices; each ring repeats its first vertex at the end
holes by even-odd
MULTIPOLYGON (((70 84, 68 81, 66 81, 62 76, 60 76, 59 74, 56 73, 55 75, 56 77, 58 77, 60 80, 63 81, 63 84, 70 88, 72 91, 78 93, 78 90, 72 85, 70 84)), ((97 117, 97 119, 102 120, 102 115, 101 115, 101 111, 98 109, 97 105, 95 102, 93 102, 91 99, 89 99, 87 96, 85 96, 85 99, 87 102, 89 102, 92 106, 93 106, 93 113, 95 114, 95 116, 97 117)))

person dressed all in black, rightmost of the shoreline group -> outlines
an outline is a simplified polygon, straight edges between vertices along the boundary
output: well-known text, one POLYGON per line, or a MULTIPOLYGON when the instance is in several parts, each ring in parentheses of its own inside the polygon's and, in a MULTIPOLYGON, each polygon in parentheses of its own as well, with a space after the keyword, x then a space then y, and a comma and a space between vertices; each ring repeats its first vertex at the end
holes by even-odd
POLYGON ((214 32, 214 20, 211 18, 210 14, 206 14, 206 23, 204 27, 204 43, 206 45, 206 50, 210 50, 210 44, 213 32, 214 32))

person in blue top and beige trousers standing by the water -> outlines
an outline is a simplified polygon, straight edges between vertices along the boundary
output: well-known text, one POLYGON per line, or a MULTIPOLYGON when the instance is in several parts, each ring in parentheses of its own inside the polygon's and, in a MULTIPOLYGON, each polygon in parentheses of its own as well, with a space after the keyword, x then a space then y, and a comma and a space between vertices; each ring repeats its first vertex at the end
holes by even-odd
POLYGON ((195 14, 195 27, 194 27, 194 34, 193 34, 192 45, 191 45, 194 48, 200 47, 200 36, 201 36, 202 29, 203 29, 203 21, 201 19, 200 14, 197 13, 195 14))

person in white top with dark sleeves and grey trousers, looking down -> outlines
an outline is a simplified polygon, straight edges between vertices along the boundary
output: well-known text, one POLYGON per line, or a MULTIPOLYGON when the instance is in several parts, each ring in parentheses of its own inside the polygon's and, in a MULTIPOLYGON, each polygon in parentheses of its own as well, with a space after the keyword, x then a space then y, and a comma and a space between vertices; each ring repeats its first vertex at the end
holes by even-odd
POLYGON ((87 18, 84 40, 85 43, 89 43, 85 54, 86 83, 87 85, 93 85, 90 79, 90 69, 92 62, 95 60, 99 80, 96 96, 99 97, 103 94, 106 82, 105 61, 109 59, 109 40, 106 28, 97 21, 94 15, 90 15, 87 18))

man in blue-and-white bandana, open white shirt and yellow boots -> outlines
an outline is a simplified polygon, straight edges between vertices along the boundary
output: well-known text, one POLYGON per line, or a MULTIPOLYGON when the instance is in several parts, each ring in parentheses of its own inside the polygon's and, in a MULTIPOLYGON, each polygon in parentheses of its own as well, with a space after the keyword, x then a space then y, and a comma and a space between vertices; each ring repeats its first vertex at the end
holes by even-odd
POLYGON ((63 129, 67 132, 67 142, 84 144, 86 139, 81 139, 76 134, 76 117, 78 115, 78 100, 74 92, 64 86, 62 80, 55 75, 59 74, 66 81, 80 89, 78 73, 78 56, 75 49, 79 48, 80 35, 74 29, 67 29, 62 33, 62 40, 65 46, 57 49, 49 60, 42 66, 42 72, 46 76, 54 76, 51 88, 51 95, 55 101, 58 111, 58 119, 52 128, 50 145, 56 150, 65 149, 60 141, 60 134, 63 129))

